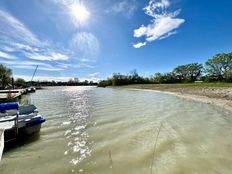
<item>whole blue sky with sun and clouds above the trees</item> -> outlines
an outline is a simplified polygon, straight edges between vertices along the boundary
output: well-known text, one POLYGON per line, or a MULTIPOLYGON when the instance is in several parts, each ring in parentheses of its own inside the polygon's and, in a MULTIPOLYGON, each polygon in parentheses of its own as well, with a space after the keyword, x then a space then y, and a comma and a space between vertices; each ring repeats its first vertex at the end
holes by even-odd
POLYGON ((232 48, 229 0, 1 0, 0 63, 15 77, 97 81, 168 72, 232 48))

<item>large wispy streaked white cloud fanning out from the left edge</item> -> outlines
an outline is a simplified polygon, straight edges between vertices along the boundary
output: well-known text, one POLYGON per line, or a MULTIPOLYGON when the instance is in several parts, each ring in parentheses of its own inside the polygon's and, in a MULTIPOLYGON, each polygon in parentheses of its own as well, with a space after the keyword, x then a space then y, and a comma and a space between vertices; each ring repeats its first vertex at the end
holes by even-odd
POLYGON ((69 59, 69 55, 62 49, 39 40, 22 22, 2 10, 0 10, 0 23, 0 50, 17 52, 24 57, 40 61, 69 59))

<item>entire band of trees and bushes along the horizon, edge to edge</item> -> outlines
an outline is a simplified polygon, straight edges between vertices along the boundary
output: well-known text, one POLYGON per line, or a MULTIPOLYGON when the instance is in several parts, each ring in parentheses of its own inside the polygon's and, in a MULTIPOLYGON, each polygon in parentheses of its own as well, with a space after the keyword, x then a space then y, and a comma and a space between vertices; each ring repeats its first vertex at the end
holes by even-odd
MULTIPOLYGON (((25 81, 22 78, 14 79, 12 70, 0 64, 0 89, 25 88, 28 86, 88 86, 98 85, 122 86, 135 84, 181 84, 184 86, 228 86, 232 82, 232 53, 221 53, 208 59, 204 64, 190 63, 179 65, 171 72, 155 73, 150 77, 143 77, 136 70, 124 75, 113 73, 112 77, 93 81, 79 81, 78 78, 67 82, 56 81, 25 81), (201 83, 193 83, 201 82, 201 83)), ((230 85, 229 85, 230 86, 230 85)))

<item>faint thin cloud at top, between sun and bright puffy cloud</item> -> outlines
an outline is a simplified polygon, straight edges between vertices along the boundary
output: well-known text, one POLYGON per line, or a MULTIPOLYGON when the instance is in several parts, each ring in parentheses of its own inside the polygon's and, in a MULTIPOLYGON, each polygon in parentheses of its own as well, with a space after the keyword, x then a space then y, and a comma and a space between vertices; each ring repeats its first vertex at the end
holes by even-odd
POLYGON ((136 0, 121 0, 116 2, 110 9, 106 12, 113 12, 115 14, 122 14, 125 17, 131 17, 134 12, 138 9, 138 3, 136 0))

